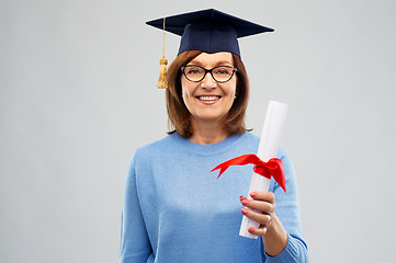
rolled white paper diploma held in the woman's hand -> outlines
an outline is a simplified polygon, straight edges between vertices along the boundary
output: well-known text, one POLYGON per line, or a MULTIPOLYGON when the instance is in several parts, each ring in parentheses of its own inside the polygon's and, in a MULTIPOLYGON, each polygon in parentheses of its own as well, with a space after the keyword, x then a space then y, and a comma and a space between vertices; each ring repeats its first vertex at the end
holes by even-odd
MULTIPOLYGON (((287 105, 281 102, 270 101, 268 106, 267 116, 264 121, 264 126, 262 128, 259 150, 257 156, 263 160, 268 161, 271 158, 276 157, 278 148, 281 141, 282 130, 284 126, 284 121, 286 118, 287 105)), ((268 192, 270 188, 271 180, 253 172, 250 181, 249 193, 253 191, 268 192)), ((248 194, 248 198, 251 199, 248 194)), ((239 236, 257 239, 257 236, 251 235, 248 229, 250 227, 258 228, 260 224, 250 218, 244 216, 242 222, 240 225, 239 236)))

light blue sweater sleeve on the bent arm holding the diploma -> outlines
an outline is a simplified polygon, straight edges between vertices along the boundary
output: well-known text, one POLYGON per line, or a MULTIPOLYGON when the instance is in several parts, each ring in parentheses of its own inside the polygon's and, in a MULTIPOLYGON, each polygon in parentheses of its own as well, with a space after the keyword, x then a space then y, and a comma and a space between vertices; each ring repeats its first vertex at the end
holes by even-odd
POLYGON ((283 228, 287 231, 287 244, 276 256, 267 255, 268 263, 307 263, 307 245, 303 240, 302 224, 299 217, 298 188, 294 169, 287 152, 280 148, 279 156, 283 161, 286 176, 286 193, 274 182, 275 213, 283 228))

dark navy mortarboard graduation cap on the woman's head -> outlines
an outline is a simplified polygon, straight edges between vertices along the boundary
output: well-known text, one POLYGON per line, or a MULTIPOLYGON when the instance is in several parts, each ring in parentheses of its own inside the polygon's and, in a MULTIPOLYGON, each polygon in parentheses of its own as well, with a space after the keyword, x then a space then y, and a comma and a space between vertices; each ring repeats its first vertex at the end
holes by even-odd
POLYGON ((185 50, 229 52, 240 57, 237 38, 273 31, 215 9, 172 15, 165 20, 166 23, 162 18, 146 24, 180 35, 178 54, 185 50))

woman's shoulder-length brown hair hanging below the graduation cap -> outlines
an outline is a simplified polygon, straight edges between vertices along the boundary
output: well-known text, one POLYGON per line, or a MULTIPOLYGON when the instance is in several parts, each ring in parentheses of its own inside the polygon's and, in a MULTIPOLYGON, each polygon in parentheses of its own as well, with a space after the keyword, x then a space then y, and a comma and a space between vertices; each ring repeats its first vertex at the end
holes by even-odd
MULTIPOLYGON (((190 138, 193 134, 191 127, 191 113, 186 108, 182 99, 181 89, 181 67, 185 66, 192 59, 197 57, 202 52, 186 50, 172 61, 168 69, 168 89, 166 91, 167 111, 170 127, 173 130, 169 134, 178 133, 184 138, 190 138)), ((237 68, 237 89, 236 99, 229 110, 228 114, 224 117, 223 127, 229 134, 244 134, 245 114, 249 101, 249 79, 245 69, 245 65, 238 55, 233 54, 234 67, 237 68)))

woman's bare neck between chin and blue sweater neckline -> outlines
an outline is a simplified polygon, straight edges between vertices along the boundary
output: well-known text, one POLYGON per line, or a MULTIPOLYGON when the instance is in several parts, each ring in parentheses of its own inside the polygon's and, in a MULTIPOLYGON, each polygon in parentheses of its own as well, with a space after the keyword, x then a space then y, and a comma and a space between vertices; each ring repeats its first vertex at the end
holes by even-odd
POLYGON ((229 134, 226 133, 219 122, 197 122, 192 119, 193 135, 190 141, 199 145, 212 145, 225 140, 229 134))

